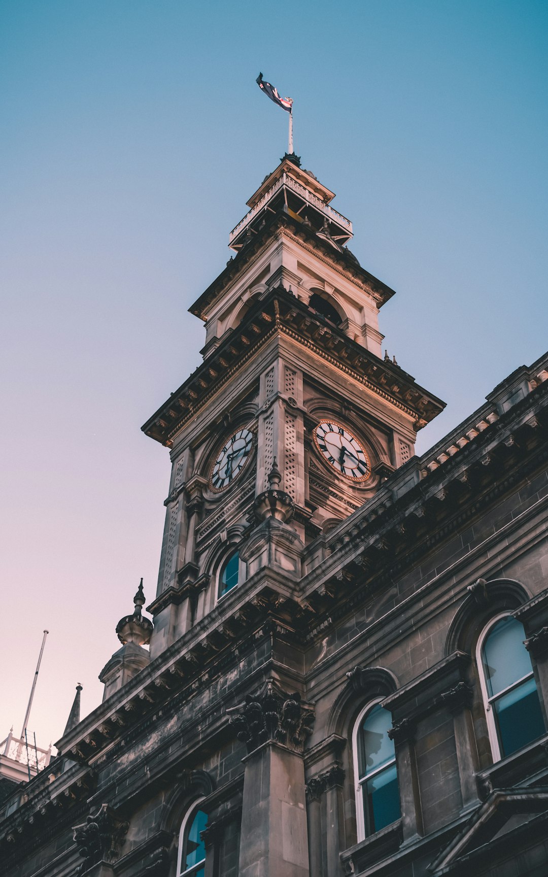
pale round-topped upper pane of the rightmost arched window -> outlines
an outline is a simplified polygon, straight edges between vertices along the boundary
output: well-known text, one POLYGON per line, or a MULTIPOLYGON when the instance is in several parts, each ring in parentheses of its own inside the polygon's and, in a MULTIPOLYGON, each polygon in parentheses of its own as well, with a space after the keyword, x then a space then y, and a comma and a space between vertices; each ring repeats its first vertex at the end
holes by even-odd
POLYGON ((523 645, 525 631, 516 618, 502 618, 483 645, 483 667, 489 697, 530 674, 531 663, 523 645))

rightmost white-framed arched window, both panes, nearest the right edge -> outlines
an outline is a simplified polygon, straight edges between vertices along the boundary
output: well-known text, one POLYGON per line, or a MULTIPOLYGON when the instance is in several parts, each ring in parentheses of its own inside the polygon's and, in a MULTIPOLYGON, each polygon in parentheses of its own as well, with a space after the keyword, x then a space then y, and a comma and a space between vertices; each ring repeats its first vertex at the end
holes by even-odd
POLYGON ((478 669, 495 761, 544 734, 524 638, 523 624, 504 615, 491 621, 478 640, 478 669))

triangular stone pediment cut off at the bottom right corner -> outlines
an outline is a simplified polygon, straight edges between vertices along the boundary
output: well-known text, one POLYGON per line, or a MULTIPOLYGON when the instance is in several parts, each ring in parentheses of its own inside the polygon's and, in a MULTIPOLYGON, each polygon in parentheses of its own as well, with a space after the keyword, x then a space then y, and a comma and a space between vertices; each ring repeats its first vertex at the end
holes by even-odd
POLYGON ((429 866, 433 877, 459 870, 475 850, 516 831, 548 811, 548 788, 497 788, 429 866))

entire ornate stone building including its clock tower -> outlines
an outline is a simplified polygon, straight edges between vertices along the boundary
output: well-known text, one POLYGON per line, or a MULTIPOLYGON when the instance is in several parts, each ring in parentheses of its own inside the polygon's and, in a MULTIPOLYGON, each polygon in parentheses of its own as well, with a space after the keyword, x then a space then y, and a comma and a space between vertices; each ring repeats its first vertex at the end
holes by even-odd
POLYGON ((286 155, 190 309, 153 622, 4 783, 0 875, 548 873, 548 354, 417 457, 332 198, 286 155))

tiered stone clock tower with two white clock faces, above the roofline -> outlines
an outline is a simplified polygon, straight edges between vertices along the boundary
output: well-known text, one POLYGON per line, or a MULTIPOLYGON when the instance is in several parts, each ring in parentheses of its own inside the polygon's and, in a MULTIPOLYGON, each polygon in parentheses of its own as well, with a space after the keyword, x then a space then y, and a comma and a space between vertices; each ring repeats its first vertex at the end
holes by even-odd
POLYGON ((443 408, 382 356, 394 290, 348 249, 333 197, 295 154, 267 175, 190 308, 203 364, 143 426, 173 463, 152 658, 261 568, 296 586, 443 408))

